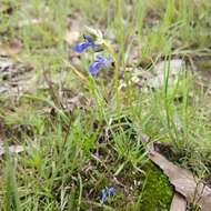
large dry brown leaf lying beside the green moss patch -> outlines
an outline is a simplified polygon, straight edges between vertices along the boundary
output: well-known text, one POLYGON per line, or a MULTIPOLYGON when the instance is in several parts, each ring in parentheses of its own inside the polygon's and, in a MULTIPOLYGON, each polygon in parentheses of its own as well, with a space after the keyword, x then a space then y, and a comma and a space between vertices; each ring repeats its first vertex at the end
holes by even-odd
POLYGON ((149 158, 163 170, 175 191, 185 197, 189 203, 198 201, 202 211, 211 210, 211 189, 209 187, 202 184, 189 170, 177 167, 154 150, 150 151, 149 158))

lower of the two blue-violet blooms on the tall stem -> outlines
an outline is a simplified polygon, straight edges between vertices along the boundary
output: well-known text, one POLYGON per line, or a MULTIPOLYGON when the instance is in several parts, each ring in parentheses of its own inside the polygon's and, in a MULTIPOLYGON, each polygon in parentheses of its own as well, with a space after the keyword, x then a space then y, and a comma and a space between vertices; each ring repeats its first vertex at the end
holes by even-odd
POLYGON ((89 72, 91 74, 97 74, 101 68, 107 67, 109 63, 110 59, 98 56, 94 62, 90 64, 89 72))

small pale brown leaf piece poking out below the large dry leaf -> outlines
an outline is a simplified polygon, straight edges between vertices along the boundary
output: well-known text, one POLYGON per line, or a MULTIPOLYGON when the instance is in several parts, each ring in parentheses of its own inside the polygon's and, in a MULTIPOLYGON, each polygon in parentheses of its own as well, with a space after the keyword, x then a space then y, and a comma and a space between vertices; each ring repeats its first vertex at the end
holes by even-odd
POLYGON ((185 199, 181 194, 175 193, 171 202, 170 211, 185 211, 185 210, 187 210, 185 199))

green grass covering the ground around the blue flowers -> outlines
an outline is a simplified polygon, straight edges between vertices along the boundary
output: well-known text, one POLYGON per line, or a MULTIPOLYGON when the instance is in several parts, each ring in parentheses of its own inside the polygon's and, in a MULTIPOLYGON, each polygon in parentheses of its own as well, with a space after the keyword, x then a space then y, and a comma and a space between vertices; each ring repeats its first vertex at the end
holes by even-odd
POLYGON ((172 144, 173 162, 208 178, 210 96, 190 72, 195 59, 203 63, 211 57, 209 0, 4 0, 2 6, 12 12, 0 12, 0 42, 21 41, 13 59, 32 66, 34 78, 18 98, 0 94, 0 137, 26 149, 0 160, 0 210, 168 210, 172 187, 148 161, 143 133, 172 144), (37 18, 42 22, 20 27, 37 18), (111 41, 120 72, 132 67, 120 76, 125 90, 118 93, 113 69, 89 77, 93 54, 72 59, 64 34, 84 26, 111 41), (139 57, 131 60, 134 50, 139 57), (187 61, 173 87, 171 58, 187 61), (162 88, 145 93, 131 83, 133 70, 151 71, 162 60, 162 88), (110 185, 117 192, 102 205, 100 192, 110 185))

